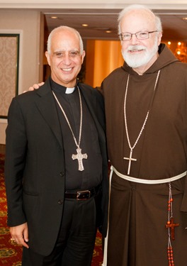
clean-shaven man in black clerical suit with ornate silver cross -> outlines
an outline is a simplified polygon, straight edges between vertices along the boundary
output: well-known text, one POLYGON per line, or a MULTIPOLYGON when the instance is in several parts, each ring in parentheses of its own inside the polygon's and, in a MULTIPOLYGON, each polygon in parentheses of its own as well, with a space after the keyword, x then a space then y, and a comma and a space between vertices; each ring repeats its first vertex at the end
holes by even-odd
POLYGON ((74 28, 55 28, 45 55, 50 78, 8 111, 8 226, 22 266, 89 266, 107 227, 103 97, 77 82, 85 52, 74 28))

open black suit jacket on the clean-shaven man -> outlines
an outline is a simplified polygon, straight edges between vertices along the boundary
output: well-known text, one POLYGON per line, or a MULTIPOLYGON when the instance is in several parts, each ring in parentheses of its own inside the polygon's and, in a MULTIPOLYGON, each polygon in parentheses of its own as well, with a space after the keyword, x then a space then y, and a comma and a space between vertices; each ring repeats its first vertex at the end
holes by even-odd
MULTIPOLYGON (((99 228, 106 235, 108 160, 103 96, 79 84, 94 119, 103 156, 99 228)), ((16 96, 8 111, 5 160, 8 226, 28 222, 29 245, 49 255, 60 229, 64 206, 64 149, 60 121, 50 81, 33 92, 16 96)))

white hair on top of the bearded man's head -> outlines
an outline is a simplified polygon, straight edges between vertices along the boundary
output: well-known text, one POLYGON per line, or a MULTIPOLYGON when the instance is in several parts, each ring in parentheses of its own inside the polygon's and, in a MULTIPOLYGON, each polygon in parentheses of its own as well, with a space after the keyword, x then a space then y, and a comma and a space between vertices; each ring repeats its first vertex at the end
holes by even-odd
POLYGON ((155 18, 155 26, 156 26, 157 31, 162 32, 162 22, 159 16, 155 15, 155 13, 151 9, 149 9, 147 6, 140 5, 140 4, 133 4, 133 5, 125 7, 125 9, 120 11, 118 15, 118 34, 121 33, 120 24, 125 14, 132 10, 141 10, 141 9, 148 11, 149 13, 152 13, 152 15, 155 18))

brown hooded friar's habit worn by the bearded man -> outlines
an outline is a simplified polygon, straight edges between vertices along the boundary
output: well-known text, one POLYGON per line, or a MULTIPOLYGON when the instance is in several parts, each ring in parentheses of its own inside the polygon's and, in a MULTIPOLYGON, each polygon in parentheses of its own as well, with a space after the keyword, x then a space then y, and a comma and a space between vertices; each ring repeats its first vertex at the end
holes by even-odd
MULTIPOLYGON (((138 75, 124 64, 104 79, 101 89, 106 105, 108 157, 118 172, 128 174, 130 148, 124 122, 126 117, 130 144, 149 116, 132 157, 130 177, 166 179, 187 169, 187 64, 179 62, 164 44, 159 57, 138 75), (160 70, 157 88, 154 84, 160 70)), ((187 181, 186 176, 171 182, 175 240, 171 240, 176 266, 187 265, 187 181), (186 193, 185 193, 186 192, 186 193)), ((113 172, 108 233, 107 266, 169 265, 167 245, 169 183, 139 184, 113 172)))

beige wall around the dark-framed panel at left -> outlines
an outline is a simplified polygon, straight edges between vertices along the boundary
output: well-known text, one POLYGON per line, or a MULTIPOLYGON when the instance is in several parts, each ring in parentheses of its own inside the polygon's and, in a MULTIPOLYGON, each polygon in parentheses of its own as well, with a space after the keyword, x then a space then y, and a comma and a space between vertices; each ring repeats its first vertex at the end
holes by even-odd
MULTIPOLYGON (((16 31, 21 34, 18 78, 18 94, 21 94, 34 83, 42 81, 40 66, 42 66, 44 30, 40 11, 1 9, 0 33, 16 33, 16 31)), ((5 144, 6 125, 6 119, 0 119, 0 144, 5 144)))

